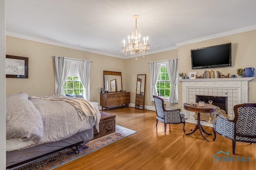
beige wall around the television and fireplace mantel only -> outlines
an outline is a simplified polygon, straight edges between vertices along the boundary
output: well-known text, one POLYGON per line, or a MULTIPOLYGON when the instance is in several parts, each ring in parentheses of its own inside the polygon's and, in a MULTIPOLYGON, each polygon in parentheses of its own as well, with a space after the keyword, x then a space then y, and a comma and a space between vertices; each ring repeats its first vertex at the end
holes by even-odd
MULTIPOLYGON (((178 67, 179 73, 185 72, 188 75, 190 71, 197 71, 197 75, 202 75, 204 70, 218 70, 222 74, 227 75, 236 74, 237 68, 254 67, 256 68, 256 30, 216 38, 204 42, 192 43, 178 47, 178 67), (190 50, 200 47, 208 47, 211 45, 218 45, 223 43, 232 43, 232 67, 224 67, 217 69, 191 69, 190 50)), ((256 71, 255 71, 256 72, 256 71)), ((254 75, 255 77, 255 75, 254 75)), ((248 102, 256 103, 256 79, 249 81, 248 102)), ((182 99, 182 83, 179 82, 179 99, 182 99)), ((179 102, 179 108, 182 108, 182 102, 179 102)))

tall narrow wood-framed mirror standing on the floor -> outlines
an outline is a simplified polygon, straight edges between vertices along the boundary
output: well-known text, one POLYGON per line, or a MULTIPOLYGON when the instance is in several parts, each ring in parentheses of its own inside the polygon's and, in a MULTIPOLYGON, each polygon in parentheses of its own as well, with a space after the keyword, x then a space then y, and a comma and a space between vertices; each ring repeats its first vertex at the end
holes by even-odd
POLYGON ((137 75, 135 108, 145 109, 146 74, 137 75))

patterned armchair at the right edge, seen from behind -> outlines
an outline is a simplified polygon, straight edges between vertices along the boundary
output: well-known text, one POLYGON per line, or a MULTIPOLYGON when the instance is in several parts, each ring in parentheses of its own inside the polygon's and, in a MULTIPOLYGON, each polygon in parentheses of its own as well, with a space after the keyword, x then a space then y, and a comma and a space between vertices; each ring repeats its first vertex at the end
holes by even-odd
POLYGON ((256 143, 256 103, 235 105, 234 114, 233 120, 222 115, 213 120, 213 140, 216 139, 216 132, 232 140, 233 154, 236 142, 256 143))

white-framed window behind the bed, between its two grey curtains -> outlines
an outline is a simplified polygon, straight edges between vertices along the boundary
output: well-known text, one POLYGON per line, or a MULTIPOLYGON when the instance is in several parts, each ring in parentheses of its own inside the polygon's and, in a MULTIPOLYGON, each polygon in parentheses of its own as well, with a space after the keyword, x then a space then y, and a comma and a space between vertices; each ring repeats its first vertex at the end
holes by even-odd
POLYGON ((84 86, 78 76, 68 76, 66 83, 63 86, 64 94, 84 94, 84 86))

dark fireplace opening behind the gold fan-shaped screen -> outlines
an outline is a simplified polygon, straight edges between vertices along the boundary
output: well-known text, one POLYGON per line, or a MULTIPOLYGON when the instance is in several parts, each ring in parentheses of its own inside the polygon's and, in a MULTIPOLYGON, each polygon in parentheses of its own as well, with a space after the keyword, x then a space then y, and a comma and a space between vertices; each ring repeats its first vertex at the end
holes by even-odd
POLYGON ((218 106, 228 114, 228 97, 196 95, 196 103, 199 101, 204 101, 204 103, 212 101, 212 105, 218 106))

